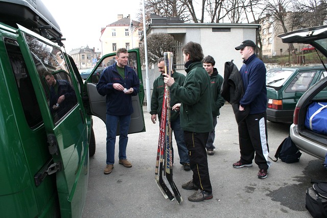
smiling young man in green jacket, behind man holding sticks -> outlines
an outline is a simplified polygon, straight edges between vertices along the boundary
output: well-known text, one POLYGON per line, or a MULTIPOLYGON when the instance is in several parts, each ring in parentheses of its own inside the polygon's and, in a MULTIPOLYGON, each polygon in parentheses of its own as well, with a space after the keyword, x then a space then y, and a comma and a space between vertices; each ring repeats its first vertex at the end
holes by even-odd
POLYGON ((207 71, 209 77, 210 77, 210 90, 211 90, 211 109, 213 112, 213 124, 214 129, 209 132, 208 140, 206 142, 206 153, 208 155, 214 155, 214 149, 216 148, 214 146, 215 141, 215 128, 217 125, 217 117, 219 118, 220 112, 219 109, 225 104, 224 98, 221 96, 220 89, 224 82, 224 79, 222 76, 218 74, 217 68, 215 68, 216 61, 215 59, 208 55, 203 60, 203 67, 205 71, 207 71))

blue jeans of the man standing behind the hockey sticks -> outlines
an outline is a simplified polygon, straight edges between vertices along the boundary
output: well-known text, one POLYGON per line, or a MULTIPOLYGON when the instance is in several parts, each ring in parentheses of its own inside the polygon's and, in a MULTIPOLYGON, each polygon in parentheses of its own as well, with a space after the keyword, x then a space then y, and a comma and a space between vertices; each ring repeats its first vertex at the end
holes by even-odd
POLYGON ((180 129, 180 118, 178 117, 176 120, 174 120, 174 122, 171 122, 170 127, 172 128, 172 132, 174 132, 175 140, 177 143, 179 163, 190 163, 188 148, 186 148, 184 140, 184 131, 180 129))

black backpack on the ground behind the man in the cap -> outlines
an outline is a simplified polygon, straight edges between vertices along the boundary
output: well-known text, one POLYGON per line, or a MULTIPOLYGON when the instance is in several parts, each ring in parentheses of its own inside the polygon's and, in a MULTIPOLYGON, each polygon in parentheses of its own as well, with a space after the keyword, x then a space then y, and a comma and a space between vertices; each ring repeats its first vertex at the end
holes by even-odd
POLYGON ((278 146, 278 149, 275 154, 276 160, 281 159, 285 163, 295 163, 300 160, 302 153, 295 146, 295 143, 292 141, 291 137, 288 136, 285 138, 282 143, 278 146))

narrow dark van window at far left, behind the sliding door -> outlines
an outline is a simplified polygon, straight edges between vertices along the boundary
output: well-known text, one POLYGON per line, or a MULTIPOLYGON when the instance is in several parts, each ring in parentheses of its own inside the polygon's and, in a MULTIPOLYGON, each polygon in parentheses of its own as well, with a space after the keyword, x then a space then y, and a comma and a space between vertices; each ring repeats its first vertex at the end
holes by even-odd
POLYGON ((43 124, 43 119, 24 58, 16 40, 4 40, 27 124, 32 129, 37 128, 43 124))

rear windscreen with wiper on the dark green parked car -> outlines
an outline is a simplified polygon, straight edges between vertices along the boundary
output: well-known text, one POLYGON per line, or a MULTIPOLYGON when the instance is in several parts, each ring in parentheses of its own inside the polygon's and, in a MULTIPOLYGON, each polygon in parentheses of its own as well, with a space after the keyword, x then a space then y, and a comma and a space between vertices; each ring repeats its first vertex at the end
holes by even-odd
POLYGON ((292 74, 292 70, 270 69, 266 73, 266 85, 269 87, 282 86, 292 74))

